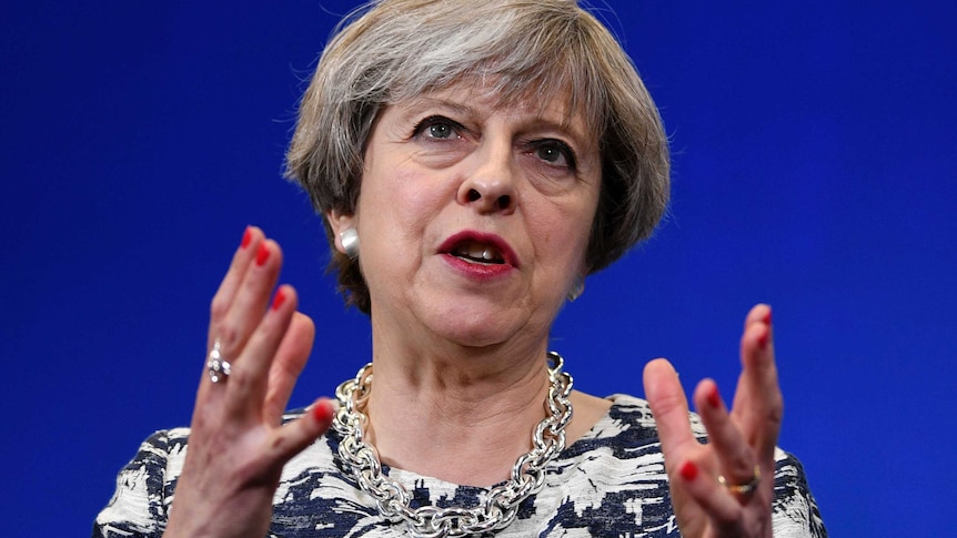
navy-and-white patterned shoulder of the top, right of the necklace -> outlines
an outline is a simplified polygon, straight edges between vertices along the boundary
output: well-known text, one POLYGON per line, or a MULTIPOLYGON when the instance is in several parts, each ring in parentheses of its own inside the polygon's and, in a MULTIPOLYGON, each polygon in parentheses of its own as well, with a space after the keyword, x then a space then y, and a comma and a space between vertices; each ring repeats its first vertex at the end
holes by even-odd
MULTIPOLYGON (((548 477, 548 485, 557 487, 540 494, 540 503, 551 501, 557 514, 552 524, 565 530, 677 535, 664 454, 648 403, 624 394, 608 399, 608 413, 562 453, 558 470, 548 477), (550 490, 566 494, 550 499, 550 490)), ((707 441, 698 416, 689 413, 688 420, 695 436, 707 441)), ((775 535, 826 536, 800 463, 779 448, 775 460, 775 535)))

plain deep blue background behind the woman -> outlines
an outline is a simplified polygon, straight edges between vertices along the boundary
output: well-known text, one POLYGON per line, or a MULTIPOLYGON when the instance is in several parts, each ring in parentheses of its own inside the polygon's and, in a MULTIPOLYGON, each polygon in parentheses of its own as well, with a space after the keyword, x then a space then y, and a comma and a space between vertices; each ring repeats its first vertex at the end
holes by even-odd
MULTIPOLYGON (((304 405, 369 358, 321 224, 280 177, 352 2, 0 9, 0 512, 85 536, 153 429, 189 423, 208 305, 248 223, 319 325, 304 405)), ((586 392, 676 363, 731 393, 775 308, 780 444, 834 536, 953 528, 957 3, 628 2, 603 17, 662 109, 671 216, 554 328, 586 392)))

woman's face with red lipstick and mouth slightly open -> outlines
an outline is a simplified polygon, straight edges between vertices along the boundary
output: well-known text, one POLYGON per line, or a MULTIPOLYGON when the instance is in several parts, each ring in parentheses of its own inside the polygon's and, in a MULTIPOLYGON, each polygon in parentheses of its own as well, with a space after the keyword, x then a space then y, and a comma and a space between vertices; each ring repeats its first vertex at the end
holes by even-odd
POLYGON ((587 268, 597 148, 564 100, 498 106, 475 85, 386 106, 355 213, 330 220, 359 232, 377 329, 541 341, 587 268))

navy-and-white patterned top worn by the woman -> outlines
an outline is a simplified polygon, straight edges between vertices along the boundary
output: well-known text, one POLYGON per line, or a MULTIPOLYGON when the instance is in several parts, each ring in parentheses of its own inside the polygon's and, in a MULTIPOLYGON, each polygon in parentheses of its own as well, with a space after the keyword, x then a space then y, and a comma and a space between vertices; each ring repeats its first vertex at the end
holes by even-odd
MULTIPOLYGON (((525 499, 496 537, 681 536, 672 510, 664 457, 647 402, 614 395, 608 413, 548 464, 545 486, 525 499)), ((286 419, 302 415, 286 415, 286 419)), ((692 427, 704 439, 696 415, 692 427)), ((162 536, 185 458, 188 428, 158 432, 117 478, 97 517, 93 537, 162 536)), ((285 465, 273 497, 269 537, 404 537, 404 524, 380 516, 338 455, 330 429, 285 465)), ((826 537, 800 463, 775 450, 774 536, 826 537)), ((486 488, 457 486, 414 473, 383 471, 412 494, 413 508, 477 506, 486 488)))

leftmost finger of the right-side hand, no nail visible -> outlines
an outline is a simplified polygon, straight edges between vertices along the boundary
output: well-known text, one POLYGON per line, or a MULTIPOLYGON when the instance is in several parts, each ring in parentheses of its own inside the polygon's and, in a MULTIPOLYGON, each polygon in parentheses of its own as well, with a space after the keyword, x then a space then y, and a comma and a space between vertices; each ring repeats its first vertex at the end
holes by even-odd
MULTIPOLYGON (((643 380, 667 465, 668 459, 673 458, 672 455, 677 456, 681 450, 698 446, 692 434, 687 398, 677 373, 664 358, 645 365, 643 380)), ((673 459, 676 460, 677 457, 673 459)))

